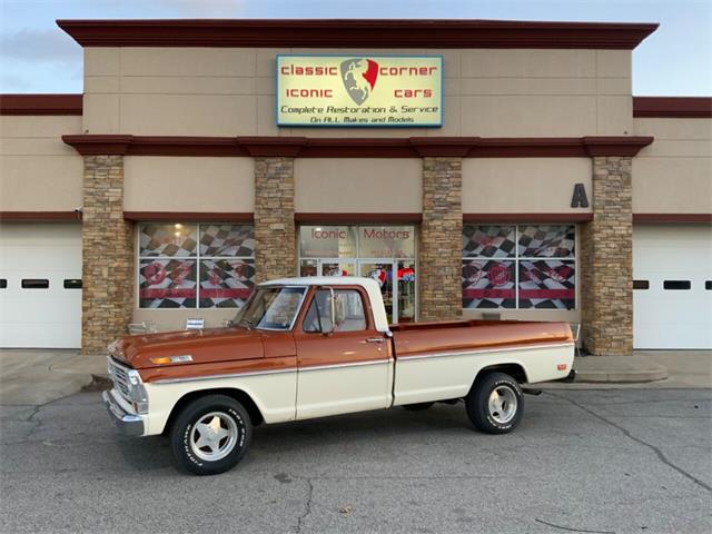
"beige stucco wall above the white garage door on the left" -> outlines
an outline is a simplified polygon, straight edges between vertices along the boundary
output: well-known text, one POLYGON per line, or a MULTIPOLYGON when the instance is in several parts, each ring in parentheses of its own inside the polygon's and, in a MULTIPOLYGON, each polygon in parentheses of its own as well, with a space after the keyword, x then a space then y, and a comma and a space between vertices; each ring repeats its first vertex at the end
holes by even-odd
POLYGON ((81 207, 82 157, 61 140, 81 117, 0 117, 0 211, 81 207))

